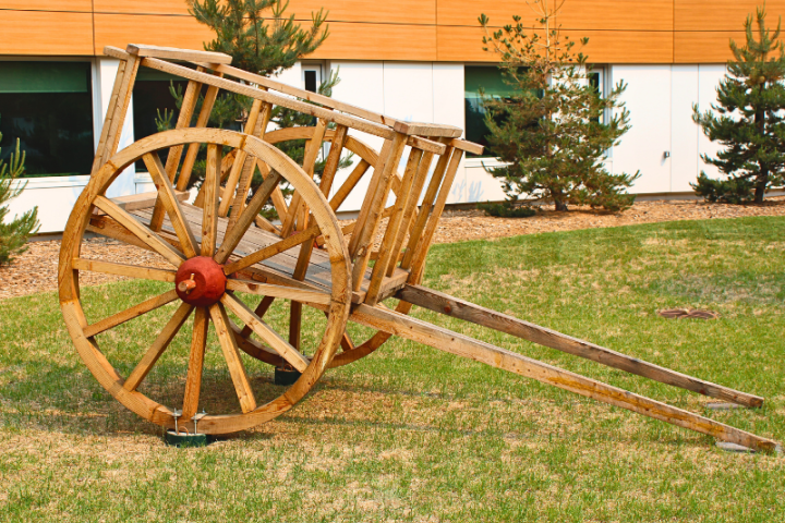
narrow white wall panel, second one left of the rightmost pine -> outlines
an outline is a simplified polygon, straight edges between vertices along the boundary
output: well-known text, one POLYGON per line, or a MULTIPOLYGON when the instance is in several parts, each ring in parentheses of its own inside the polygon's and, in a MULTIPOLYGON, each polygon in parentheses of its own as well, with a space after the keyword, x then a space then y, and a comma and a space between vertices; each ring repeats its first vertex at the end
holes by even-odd
POLYGON ((674 65, 671 86, 671 192, 691 191, 698 177, 698 136, 692 105, 698 104, 698 65, 674 65))

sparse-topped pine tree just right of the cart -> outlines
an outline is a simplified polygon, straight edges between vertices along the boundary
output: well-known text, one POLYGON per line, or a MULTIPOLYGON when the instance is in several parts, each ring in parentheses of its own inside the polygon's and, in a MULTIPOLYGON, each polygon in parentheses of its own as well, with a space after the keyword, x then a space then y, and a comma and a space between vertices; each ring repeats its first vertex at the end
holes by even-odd
POLYGON ((555 9, 546 0, 531 5, 540 31, 514 16, 514 25, 492 33, 490 19, 480 16, 483 49, 500 58, 499 70, 514 88, 508 98, 484 98, 490 149, 508 163, 488 172, 503 181, 509 205, 527 195, 552 199, 556 210, 568 204, 627 208, 635 196, 625 190, 640 173, 612 174, 603 166, 605 151, 630 129, 629 111, 619 102, 626 85, 603 98, 589 82, 587 57, 554 26, 564 1, 555 9))

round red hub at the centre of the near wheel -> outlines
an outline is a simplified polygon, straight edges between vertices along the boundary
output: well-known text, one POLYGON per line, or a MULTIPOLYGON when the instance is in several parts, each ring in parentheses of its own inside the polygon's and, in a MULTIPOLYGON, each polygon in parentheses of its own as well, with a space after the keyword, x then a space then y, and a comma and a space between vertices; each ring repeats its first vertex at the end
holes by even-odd
POLYGON ((218 303, 226 292, 224 268, 208 256, 185 260, 174 276, 174 289, 185 303, 207 307, 218 303))

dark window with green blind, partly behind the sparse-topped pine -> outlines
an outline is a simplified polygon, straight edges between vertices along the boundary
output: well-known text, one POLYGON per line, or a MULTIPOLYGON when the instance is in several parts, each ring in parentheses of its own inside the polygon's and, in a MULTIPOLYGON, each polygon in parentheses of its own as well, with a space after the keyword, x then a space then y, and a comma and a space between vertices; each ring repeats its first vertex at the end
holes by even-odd
MULTIPOLYGON (((467 65, 463 84, 467 139, 487 146, 485 135, 488 134, 488 130, 485 125, 485 109, 480 89, 484 90, 486 97, 504 98, 512 94, 512 87, 504 82, 502 72, 495 65, 467 65)), ((483 156, 494 155, 486 148, 483 156)))

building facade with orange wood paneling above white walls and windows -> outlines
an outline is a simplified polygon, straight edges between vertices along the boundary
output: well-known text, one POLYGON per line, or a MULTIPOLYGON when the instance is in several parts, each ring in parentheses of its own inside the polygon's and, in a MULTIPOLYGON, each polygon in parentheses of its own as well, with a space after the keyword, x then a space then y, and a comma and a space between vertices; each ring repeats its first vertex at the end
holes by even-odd
MULTIPOLYGON (((714 154, 692 123, 692 106, 705 109, 725 74, 728 40, 745 40, 749 0, 568 0, 558 16, 595 64, 599 88, 628 87, 623 100, 632 129, 608 151, 614 172, 641 171, 632 192, 684 194, 714 154)), ((766 2, 772 25, 785 0, 766 2)), ((334 97, 391 117, 447 123, 481 137, 475 109, 479 86, 494 85, 494 57, 482 50, 478 16, 491 25, 514 14, 534 25, 523 0, 291 0, 303 25, 322 7, 330 36, 318 51, 285 71, 280 80, 306 87, 339 69, 334 97)), ((65 224, 85 186, 100 135, 118 62, 105 46, 129 42, 201 49, 212 33, 188 14, 185 0, 0 0, 0 144, 8 156, 20 137, 27 151, 27 190, 13 212, 39 207, 41 232, 65 224)), ((177 87, 177 85, 176 85, 177 87)), ((122 133, 121 147, 156 131, 157 111, 173 108, 169 78, 143 72, 122 133)), ((373 144, 376 145, 376 144, 373 144)), ((449 203, 499 200, 498 182, 484 167, 491 157, 466 158, 449 203)), ((113 186, 117 195, 149 191, 144 166, 130 168, 113 186)), ((112 195, 114 196, 114 195, 112 195)), ((349 199, 341 210, 360 202, 349 199)))

